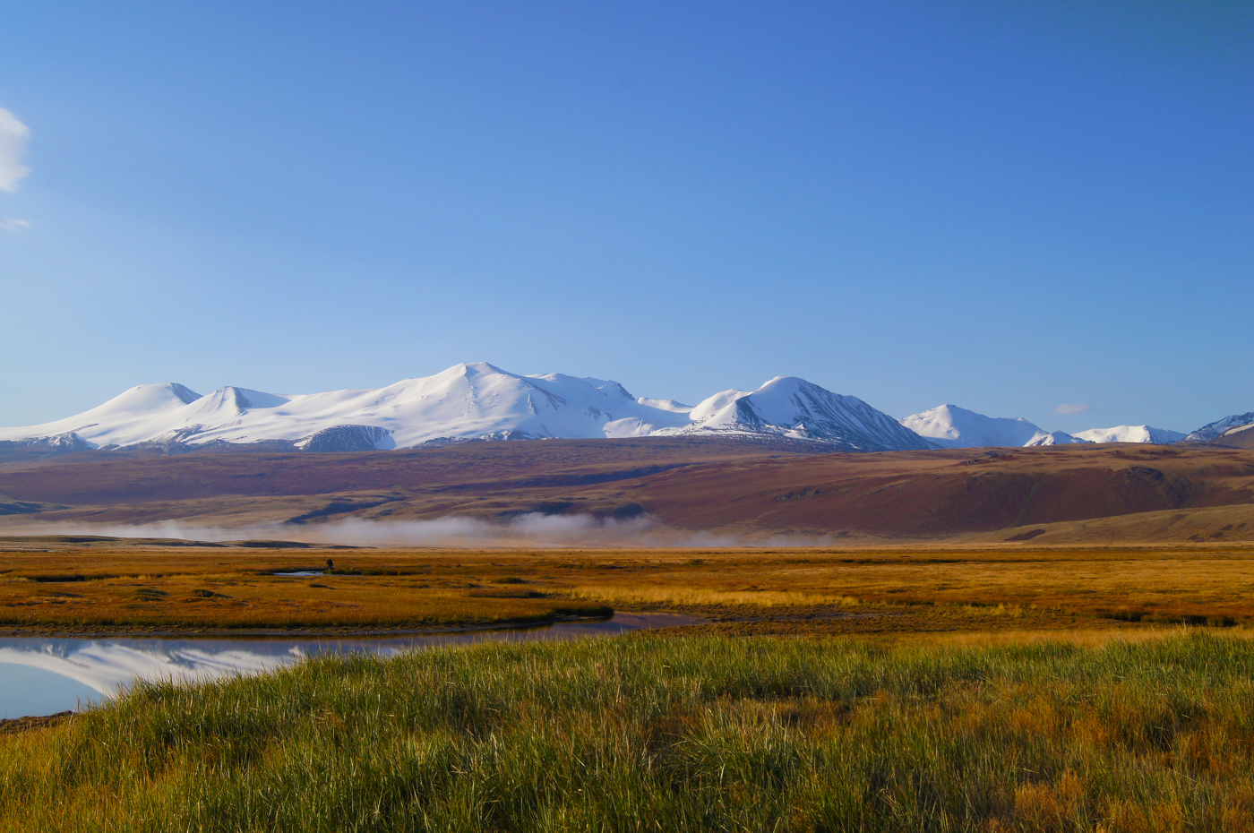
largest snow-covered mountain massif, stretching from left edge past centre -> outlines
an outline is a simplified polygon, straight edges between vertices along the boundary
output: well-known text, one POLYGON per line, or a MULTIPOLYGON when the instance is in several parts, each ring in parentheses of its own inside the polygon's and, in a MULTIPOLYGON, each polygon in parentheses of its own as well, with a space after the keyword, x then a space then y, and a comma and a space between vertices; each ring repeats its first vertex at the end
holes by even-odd
POLYGON ((307 450, 414 448, 465 439, 726 435, 821 442, 850 450, 927 448, 855 396, 780 378, 725 391, 696 408, 633 398, 616 381, 522 376, 490 364, 367 390, 276 395, 139 385, 76 416, 0 429, 0 443, 76 448, 277 443, 307 450))

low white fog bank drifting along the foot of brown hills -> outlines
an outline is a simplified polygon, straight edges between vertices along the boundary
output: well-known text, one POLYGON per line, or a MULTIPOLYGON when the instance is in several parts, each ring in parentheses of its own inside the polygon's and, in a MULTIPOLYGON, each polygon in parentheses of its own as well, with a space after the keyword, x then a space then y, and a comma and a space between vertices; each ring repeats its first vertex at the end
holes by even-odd
POLYGON ((317 524, 201 526, 187 521, 142 524, 24 523, 0 534, 92 534, 184 541, 298 541, 364 547, 816 547, 828 536, 737 536, 670 528, 656 518, 597 518, 591 514, 520 514, 503 522, 468 517, 430 521, 344 518, 317 524))

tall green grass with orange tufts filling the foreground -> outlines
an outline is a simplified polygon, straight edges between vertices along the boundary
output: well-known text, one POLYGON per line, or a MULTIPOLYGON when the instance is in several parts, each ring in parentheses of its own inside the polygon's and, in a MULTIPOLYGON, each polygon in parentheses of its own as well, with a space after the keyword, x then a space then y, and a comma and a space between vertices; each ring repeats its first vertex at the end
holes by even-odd
POLYGON ((1250 829, 1251 676, 1201 632, 319 659, 0 741, 0 828, 1250 829))

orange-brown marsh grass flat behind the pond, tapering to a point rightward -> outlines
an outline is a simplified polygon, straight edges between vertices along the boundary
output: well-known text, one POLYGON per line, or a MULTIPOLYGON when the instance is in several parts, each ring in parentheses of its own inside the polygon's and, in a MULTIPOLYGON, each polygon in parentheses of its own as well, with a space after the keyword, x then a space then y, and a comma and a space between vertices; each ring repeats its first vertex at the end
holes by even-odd
POLYGON ((325 567, 321 556, 123 551, 10 554, 0 563, 0 627, 18 630, 411 629, 607 612, 510 583, 480 585, 456 567, 272 575, 325 567))

